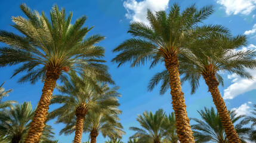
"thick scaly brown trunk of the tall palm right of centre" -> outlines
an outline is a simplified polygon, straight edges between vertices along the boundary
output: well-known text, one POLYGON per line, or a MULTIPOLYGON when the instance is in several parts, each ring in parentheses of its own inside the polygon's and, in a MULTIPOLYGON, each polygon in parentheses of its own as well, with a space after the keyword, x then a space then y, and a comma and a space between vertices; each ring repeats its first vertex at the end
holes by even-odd
POLYGON ((178 71, 177 55, 165 58, 165 67, 169 71, 169 79, 172 95, 172 107, 175 113, 177 135, 181 143, 195 142, 193 132, 190 129, 189 117, 187 117, 184 93, 181 91, 180 73, 178 71))

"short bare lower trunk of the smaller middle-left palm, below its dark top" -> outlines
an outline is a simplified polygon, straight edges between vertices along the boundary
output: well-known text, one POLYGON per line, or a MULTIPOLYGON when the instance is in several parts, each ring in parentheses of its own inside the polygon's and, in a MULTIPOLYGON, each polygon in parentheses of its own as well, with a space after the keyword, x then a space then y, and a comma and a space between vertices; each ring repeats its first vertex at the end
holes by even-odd
POLYGON ((85 119, 85 116, 82 116, 82 115, 76 116, 76 132, 75 132, 74 143, 81 143, 82 133, 84 128, 84 119, 85 119))

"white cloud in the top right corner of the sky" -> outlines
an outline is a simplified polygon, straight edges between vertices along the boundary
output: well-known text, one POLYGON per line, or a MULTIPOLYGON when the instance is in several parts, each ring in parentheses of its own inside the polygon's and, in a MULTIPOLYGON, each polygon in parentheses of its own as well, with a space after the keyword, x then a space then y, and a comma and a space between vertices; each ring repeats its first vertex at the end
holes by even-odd
POLYGON ((256 8, 256 0, 218 0, 226 9, 226 14, 250 14, 256 8))

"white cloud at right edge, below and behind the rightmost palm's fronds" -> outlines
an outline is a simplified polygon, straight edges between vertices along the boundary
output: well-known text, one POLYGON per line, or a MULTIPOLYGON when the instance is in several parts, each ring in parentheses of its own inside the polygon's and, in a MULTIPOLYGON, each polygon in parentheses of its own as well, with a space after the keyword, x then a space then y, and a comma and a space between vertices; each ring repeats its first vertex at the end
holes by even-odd
MULTIPOLYGON (((247 48, 243 47, 240 50, 244 49, 256 49, 256 46, 250 44, 247 48)), ((239 77, 237 74, 228 75, 228 79, 232 79, 232 85, 224 89, 224 100, 232 100, 238 95, 244 94, 245 92, 252 91, 256 89, 256 70, 247 70, 254 79, 245 79, 239 77)))

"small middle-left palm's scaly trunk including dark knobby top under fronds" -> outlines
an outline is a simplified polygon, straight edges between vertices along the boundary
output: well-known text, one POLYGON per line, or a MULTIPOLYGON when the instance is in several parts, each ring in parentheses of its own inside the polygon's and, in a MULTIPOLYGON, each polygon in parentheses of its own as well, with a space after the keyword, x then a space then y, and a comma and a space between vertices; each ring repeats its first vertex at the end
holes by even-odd
POLYGON ((79 105, 79 107, 76 108, 76 132, 74 143, 81 143, 84 128, 84 119, 87 111, 87 105, 85 103, 79 105))

